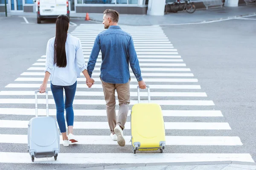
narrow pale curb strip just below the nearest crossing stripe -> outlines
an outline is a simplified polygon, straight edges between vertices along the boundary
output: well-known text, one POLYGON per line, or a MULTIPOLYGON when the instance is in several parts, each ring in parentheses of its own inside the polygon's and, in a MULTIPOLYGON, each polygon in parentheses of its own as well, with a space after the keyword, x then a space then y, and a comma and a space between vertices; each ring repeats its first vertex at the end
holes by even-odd
MULTIPOLYGON (((141 163, 141 164, 119 164, 119 165, 109 165, 101 167, 85 167, 76 170, 109 170, 109 169, 119 169, 119 168, 129 168, 129 167, 149 167, 149 166, 184 166, 184 165, 220 165, 220 164, 240 164, 240 165, 254 165, 255 162, 243 162, 243 161, 203 161, 203 162, 165 162, 165 163, 141 163)), ((67 169, 75 170, 75 169, 67 169)))

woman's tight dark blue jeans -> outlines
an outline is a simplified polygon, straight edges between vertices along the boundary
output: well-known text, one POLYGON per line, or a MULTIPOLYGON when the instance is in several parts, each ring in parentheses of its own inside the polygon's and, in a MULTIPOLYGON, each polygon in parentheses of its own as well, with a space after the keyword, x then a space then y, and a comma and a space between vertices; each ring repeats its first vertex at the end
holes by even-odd
POLYGON ((74 123, 74 111, 73 111, 73 100, 76 94, 76 83, 69 86, 53 85, 51 82, 51 91, 55 101, 57 110, 57 122, 61 133, 66 132, 66 124, 64 118, 64 107, 66 110, 67 126, 73 126, 74 123), (63 96, 63 88, 65 89, 65 104, 63 96))

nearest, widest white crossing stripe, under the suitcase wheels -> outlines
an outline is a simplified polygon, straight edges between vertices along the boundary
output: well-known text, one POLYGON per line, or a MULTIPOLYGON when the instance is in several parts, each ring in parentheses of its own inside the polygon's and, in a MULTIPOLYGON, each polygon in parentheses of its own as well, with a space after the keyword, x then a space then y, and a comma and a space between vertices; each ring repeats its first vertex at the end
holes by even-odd
POLYGON ((53 158, 35 158, 28 153, 0 152, 0 163, 21 164, 139 164, 162 162, 244 161, 254 162, 249 153, 60 153, 53 158))

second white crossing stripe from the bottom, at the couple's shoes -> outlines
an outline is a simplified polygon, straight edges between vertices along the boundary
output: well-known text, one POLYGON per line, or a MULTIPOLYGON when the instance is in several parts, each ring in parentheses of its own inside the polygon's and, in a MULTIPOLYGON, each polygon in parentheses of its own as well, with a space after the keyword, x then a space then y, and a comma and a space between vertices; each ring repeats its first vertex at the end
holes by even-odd
MULTIPOLYGON (((131 136, 124 136, 129 144, 131 136)), ((76 135, 77 144, 117 145, 110 136, 80 136, 76 135)), ((0 134, 0 143, 27 144, 27 135, 0 134)), ((60 136, 60 144, 63 144, 60 136)), ((166 145, 196 145, 196 146, 239 146, 243 145, 238 136, 166 136, 166 145)))

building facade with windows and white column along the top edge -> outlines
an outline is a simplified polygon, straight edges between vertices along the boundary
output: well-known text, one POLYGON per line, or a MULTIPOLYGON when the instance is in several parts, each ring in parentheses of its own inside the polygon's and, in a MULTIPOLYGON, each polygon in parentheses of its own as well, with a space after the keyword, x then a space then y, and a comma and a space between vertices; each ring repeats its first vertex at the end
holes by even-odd
MULTIPOLYGON (((33 0, 6 0, 7 12, 35 12, 33 0)), ((114 9, 120 14, 163 15, 165 3, 176 0, 69 0, 70 13, 102 13, 105 9, 114 9)), ((196 8, 205 8, 203 0, 191 0, 196 8)), ((244 0, 236 1, 237 5, 244 0)), ((0 12, 5 12, 5 0, 0 0, 0 12)))

